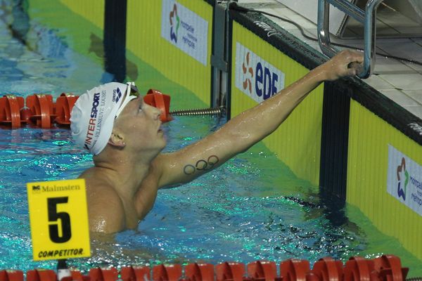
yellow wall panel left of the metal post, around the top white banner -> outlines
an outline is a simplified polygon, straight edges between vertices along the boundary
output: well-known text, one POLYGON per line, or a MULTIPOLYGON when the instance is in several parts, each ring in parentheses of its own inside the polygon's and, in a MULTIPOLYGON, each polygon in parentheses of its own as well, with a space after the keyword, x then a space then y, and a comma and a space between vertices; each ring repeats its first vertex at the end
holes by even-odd
POLYGON ((129 51, 155 67, 167 79, 184 86, 195 93, 203 103, 210 105, 212 6, 203 0, 177 2, 208 22, 206 65, 161 37, 161 0, 128 1, 126 46, 129 51))

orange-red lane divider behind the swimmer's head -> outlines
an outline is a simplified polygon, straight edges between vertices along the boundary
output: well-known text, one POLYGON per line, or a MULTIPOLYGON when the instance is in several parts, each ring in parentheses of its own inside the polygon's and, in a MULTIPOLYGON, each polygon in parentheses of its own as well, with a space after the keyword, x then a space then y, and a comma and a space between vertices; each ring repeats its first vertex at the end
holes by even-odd
MULTIPOLYGON (((44 93, 34 93, 25 100, 15 95, 4 95, 0 98, 0 128, 19 129, 25 124, 41 129, 50 129, 53 124, 69 127, 70 112, 78 98, 72 93, 62 93, 54 103, 53 97, 44 93)), ((173 119, 170 96, 150 89, 143 96, 143 101, 161 110, 163 123, 173 119)))

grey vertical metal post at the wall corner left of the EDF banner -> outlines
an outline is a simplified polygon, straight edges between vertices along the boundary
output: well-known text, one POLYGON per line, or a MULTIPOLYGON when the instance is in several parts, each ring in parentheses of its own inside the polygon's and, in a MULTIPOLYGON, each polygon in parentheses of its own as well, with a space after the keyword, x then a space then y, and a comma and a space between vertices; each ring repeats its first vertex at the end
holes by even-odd
POLYGON ((229 89, 229 3, 215 1, 212 34, 212 96, 211 107, 226 107, 229 89))

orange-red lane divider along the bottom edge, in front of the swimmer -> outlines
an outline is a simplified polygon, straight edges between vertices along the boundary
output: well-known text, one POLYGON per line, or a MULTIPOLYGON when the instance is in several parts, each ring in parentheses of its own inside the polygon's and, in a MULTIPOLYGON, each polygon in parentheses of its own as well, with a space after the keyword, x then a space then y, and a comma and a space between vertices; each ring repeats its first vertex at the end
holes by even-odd
MULTIPOLYGON (((248 263, 224 262, 190 263, 184 268, 179 264, 153 266, 126 266, 120 272, 116 268, 92 268, 87 276, 71 270, 69 277, 60 281, 405 281, 409 268, 402 268, 397 256, 383 255, 376 259, 353 256, 343 263, 330 257, 319 259, 313 268, 309 261, 289 259, 280 263, 277 276, 273 261, 248 263), (184 269, 184 270, 183 270, 184 269), (152 272, 152 274, 151 274, 152 272), (184 275, 184 276, 183 276, 184 275)), ((53 270, 28 270, 26 281, 56 281, 53 270)), ((0 281, 24 281, 20 270, 0 270, 0 281)))

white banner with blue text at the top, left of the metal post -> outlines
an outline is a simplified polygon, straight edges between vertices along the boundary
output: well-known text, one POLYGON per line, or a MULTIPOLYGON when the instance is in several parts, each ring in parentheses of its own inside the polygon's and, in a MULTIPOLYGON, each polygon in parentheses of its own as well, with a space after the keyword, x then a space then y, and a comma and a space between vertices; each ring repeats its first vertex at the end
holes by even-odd
POLYGON ((161 37, 207 65, 208 22, 174 0, 162 0, 161 37))

